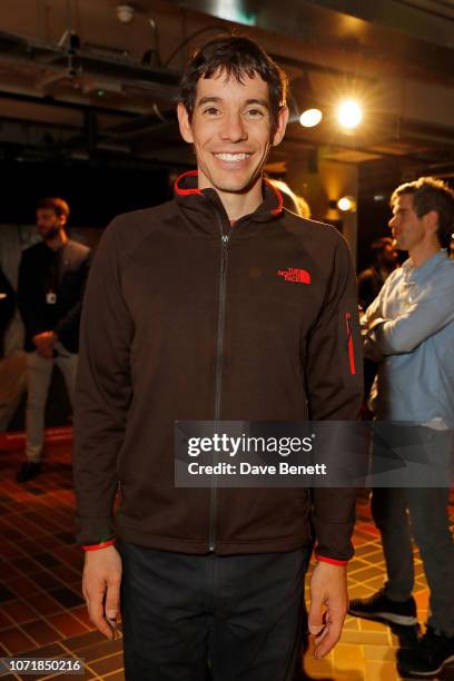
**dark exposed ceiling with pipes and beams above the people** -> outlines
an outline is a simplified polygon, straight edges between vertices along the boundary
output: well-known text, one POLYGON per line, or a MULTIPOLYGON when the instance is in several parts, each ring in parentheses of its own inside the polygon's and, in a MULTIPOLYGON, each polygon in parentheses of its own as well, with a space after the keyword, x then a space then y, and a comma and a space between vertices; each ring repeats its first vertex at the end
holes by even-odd
POLYGON ((403 169, 454 176, 448 0, 131 0, 130 23, 119 21, 116 0, 20 4, 20 13, 17 0, 0 4, 4 158, 193 165, 175 119, 179 73, 197 45, 239 23, 290 80, 306 75, 327 112, 314 129, 289 125, 272 170, 295 157, 313 165, 396 159, 403 169), (365 109, 349 135, 332 115, 347 93, 365 109))

